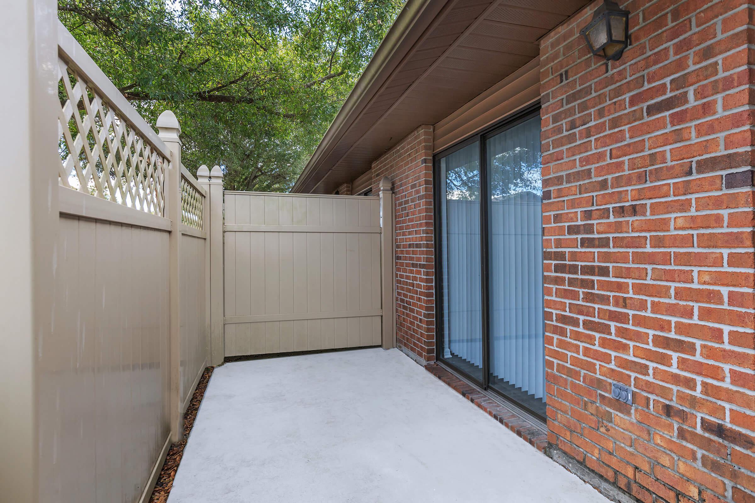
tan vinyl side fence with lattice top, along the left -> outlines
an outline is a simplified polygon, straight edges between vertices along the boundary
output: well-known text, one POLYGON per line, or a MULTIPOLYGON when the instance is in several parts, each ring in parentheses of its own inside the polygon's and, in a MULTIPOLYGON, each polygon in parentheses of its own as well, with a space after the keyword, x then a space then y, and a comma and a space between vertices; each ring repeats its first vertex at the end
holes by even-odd
MULTIPOLYGON (((57 145, 57 161, 32 169, 55 166, 57 183, 27 193, 44 195, 56 215, 34 234, 52 238, 36 271, 49 294, 39 290, 33 306, 49 310, 49 324, 36 331, 28 362, 35 456, 23 468, 32 473, 27 492, 6 489, 17 467, 0 467, 0 499, 147 501, 210 360, 211 181, 206 167, 199 182, 181 164, 172 112, 155 133, 54 26, 57 97, 40 99, 54 127, 39 127, 35 141, 57 145)), ((221 241, 222 227, 216 232, 221 241)))

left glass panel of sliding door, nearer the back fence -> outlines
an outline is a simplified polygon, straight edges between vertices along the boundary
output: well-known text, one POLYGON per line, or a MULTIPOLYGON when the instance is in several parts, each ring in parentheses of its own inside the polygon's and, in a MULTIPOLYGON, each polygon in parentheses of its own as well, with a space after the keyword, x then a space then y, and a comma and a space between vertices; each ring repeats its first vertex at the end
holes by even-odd
POLYGON ((439 159, 442 356, 482 381, 479 143, 439 159))

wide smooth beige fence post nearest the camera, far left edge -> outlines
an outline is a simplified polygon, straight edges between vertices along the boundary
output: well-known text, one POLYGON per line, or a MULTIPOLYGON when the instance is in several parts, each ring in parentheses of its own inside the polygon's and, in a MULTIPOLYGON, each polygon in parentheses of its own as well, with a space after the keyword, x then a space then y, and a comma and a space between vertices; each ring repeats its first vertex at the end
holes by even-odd
MULTIPOLYGON (((39 363, 55 351, 52 312, 59 218, 57 9, 52 0, 3 3, 0 148, 5 190, 0 261, 0 499, 39 501, 39 363), (46 353, 45 353, 46 354, 46 353)), ((57 334, 56 334, 57 335, 57 334)), ((66 334, 67 335, 67 334, 66 334)), ((48 379, 53 379, 49 377, 48 379)))

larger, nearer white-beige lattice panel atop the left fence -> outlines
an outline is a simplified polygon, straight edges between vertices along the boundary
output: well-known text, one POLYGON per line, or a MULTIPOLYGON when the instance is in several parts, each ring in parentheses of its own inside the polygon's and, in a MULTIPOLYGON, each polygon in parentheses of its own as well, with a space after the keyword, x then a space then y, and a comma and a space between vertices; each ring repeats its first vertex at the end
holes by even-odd
POLYGON ((60 185, 164 216, 169 160, 58 59, 60 185))

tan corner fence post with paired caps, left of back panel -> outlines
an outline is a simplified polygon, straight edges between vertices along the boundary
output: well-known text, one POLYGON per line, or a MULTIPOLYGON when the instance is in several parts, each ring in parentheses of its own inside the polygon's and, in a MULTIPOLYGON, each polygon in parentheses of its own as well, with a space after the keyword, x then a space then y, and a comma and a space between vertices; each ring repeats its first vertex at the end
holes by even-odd
POLYGON ((196 172, 199 183, 207 191, 207 212, 205 232, 209 253, 209 275, 207 276, 210 294, 210 365, 220 365, 225 357, 223 339, 223 170, 215 166, 212 171, 202 165, 196 172))

